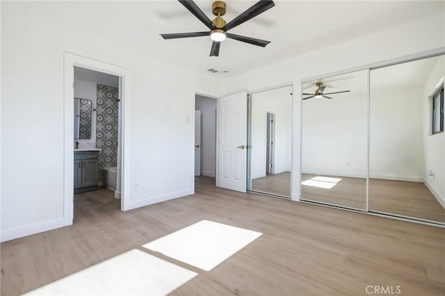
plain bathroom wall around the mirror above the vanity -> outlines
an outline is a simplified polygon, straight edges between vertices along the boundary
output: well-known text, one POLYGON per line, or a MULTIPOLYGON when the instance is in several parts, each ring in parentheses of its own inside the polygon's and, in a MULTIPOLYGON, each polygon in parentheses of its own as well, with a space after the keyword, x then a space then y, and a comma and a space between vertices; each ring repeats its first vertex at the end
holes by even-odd
POLYGON ((89 99, 91 101, 91 138, 77 139, 79 149, 96 147, 96 115, 93 111, 97 108, 97 83, 74 79, 74 97, 79 99, 89 99))

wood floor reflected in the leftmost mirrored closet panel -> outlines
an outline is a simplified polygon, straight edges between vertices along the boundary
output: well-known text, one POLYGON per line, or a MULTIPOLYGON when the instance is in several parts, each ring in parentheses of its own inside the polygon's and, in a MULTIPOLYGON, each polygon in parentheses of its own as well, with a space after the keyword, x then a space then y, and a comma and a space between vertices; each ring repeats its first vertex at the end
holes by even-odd
POLYGON ((291 172, 266 174, 262 178, 253 179, 252 190, 290 197, 291 172))

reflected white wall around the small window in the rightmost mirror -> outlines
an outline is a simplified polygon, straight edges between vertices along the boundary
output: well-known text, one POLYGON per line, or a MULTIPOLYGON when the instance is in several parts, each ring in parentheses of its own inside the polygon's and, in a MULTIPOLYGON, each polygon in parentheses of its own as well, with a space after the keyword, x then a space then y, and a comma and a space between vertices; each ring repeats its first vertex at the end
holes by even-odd
MULTIPOLYGON (((445 208, 445 133, 431 134, 432 131, 432 100, 437 83, 445 75, 445 58, 442 56, 432 67, 423 83, 423 151, 425 155, 425 183, 437 200, 445 208), (430 170, 434 176, 429 176, 430 170)), ((443 83, 443 80, 442 80, 443 83)))

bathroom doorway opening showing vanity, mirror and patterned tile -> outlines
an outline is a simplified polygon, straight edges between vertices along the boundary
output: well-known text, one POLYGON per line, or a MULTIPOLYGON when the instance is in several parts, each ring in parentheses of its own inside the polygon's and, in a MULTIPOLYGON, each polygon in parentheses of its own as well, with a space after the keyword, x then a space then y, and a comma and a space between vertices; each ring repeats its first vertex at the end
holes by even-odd
MULTIPOLYGON (((74 211, 120 208, 120 77, 74 66, 74 211), (96 204, 99 202, 100 206, 96 204)), ((79 216, 74 213, 75 219, 79 216)))

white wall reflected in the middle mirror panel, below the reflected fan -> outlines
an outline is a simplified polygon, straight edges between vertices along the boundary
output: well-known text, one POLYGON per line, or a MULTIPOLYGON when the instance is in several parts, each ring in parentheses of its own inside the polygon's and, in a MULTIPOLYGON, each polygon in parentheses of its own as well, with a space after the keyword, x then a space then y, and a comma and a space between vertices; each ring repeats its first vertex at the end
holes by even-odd
MULTIPOLYGON (((302 106, 302 173, 366 177, 366 71, 330 77, 325 92, 332 99, 312 98, 302 106)), ((303 89, 314 90, 314 83, 303 89), (309 86, 312 85, 312 88, 309 86)))

